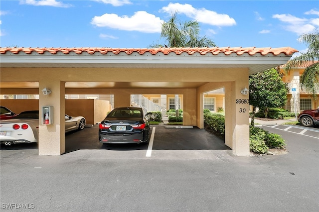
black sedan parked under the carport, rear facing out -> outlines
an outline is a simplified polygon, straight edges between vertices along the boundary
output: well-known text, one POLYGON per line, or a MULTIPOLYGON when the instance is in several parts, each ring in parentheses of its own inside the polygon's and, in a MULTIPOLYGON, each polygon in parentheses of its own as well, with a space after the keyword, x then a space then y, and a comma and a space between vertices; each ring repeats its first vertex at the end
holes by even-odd
POLYGON ((99 127, 101 143, 148 143, 150 124, 148 114, 141 107, 117 107, 99 127))

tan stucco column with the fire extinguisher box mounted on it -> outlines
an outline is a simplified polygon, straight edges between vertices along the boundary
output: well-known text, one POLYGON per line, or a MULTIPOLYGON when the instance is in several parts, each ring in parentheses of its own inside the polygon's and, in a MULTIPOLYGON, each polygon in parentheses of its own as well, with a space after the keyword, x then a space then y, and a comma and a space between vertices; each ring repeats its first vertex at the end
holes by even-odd
POLYGON ((53 79, 39 81, 39 155, 61 155, 65 152, 64 82, 53 79), (51 94, 43 95, 44 88, 51 94), (53 106, 52 124, 42 123, 42 106, 53 106))

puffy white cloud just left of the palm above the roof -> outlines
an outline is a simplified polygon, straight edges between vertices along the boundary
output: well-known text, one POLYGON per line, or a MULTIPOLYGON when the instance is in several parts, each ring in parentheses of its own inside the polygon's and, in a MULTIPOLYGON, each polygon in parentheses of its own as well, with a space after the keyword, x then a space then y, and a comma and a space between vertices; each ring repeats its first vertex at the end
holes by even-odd
POLYGON ((161 32, 161 23, 159 17, 146 11, 137 11, 131 17, 127 15, 118 16, 117 14, 105 13, 101 16, 94 16, 91 24, 98 27, 110 27, 126 31, 140 31, 146 33, 161 32))

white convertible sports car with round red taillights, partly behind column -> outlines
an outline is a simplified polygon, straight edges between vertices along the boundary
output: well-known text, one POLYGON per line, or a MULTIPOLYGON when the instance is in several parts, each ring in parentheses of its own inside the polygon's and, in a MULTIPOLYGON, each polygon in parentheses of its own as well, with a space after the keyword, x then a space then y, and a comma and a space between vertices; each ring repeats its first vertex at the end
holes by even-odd
MULTIPOLYGON (((65 114, 65 132, 81 130, 85 127, 83 116, 72 117, 65 114)), ((39 111, 24 111, 12 119, 0 121, 0 143, 34 143, 39 140, 39 111)))

